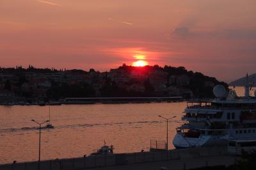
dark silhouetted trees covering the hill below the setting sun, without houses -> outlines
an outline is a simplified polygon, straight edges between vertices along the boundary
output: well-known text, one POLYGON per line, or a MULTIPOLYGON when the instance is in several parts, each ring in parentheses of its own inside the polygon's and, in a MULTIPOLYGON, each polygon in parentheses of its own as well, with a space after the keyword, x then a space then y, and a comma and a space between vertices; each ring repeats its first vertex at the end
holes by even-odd
MULTIPOLYGON (((129 82, 126 84, 118 84, 115 80, 111 79, 110 72, 96 72, 94 69, 90 69, 88 72, 84 70, 66 70, 61 69, 57 70, 55 68, 35 68, 30 66, 28 68, 22 68, 22 66, 17 66, 16 68, 1 68, 0 74, 4 75, 6 73, 15 75, 16 81, 12 79, 4 79, 0 77, 0 82, 4 84, 3 89, 8 91, 13 91, 16 96, 26 97, 26 98, 36 98, 38 91, 44 91, 40 93, 45 93, 44 98, 46 100, 50 98, 60 99, 66 97, 163 97, 168 96, 165 93, 165 89, 170 87, 175 87, 179 91, 189 90, 191 93, 182 93, 180 94, 186 98, 196 97, 196 98, 212 98, 214 97, 212 93, 212 88, 216 84, 222 84, 228 88, 228 84, 225 82, 219 82, 214 77, 209 77, 200 72, 192 72, 186 70, 183 66, 173 67, 173 66, 127 66, 122 65, 116 69, 118 72, 122 72, 126 77, 131 75, 131 72, 144 72, 146 78, 143 79, 129 79, 129 82), (164 90, 162 92, 156 91, 156 84, 154 80, 149 79, 147 76, 152 72, 163 72, 166 73, 166 81, 164 82, 164 90), (51 86, 48 88, 40 87, 36 85, 32 87, 29 85, 29 80, 26 78, 26 73, 40 73, 44 75, 45 73, 63 73, 63 79, 68 81, 58 82, 52 79, 49 79, 51 86), (74 77, 76 75, 87 76, 86 78, 72 79, 72 83, 67 78, 67 73, 72 73, 74 77), (179 85, 177 82, 177 77, 179 76, 188 77, 188 83, 179 85), (176 77, 174 81, 170 82, 170 77, 176 77), (3 82, 4 81, 4 82, 3 82), (208 82, 208 84, 206 83, 208 82), (210 85, 209 85, 210 82, 210 85), (136 91, 136 89, 127 89, 125 87, 132 86, 132 84, 142 84, 143 91, 136 91), (24 84, 29 86, 27 89, 24 89, 24 84), (97 85, 97 87, 95 87, 97 85), (124 87, 124 86, 125 87, 124 87), (98 87, 99 86, 99 87, 98 87), (13 88, 14 87, 14 88, 13 88)), ((79 77, 79 76, 77 76, 79 77)), ((31 81, 31 80, 30 80, 31 81)), ((40 97, 38 97, 40 98, 40 97)))

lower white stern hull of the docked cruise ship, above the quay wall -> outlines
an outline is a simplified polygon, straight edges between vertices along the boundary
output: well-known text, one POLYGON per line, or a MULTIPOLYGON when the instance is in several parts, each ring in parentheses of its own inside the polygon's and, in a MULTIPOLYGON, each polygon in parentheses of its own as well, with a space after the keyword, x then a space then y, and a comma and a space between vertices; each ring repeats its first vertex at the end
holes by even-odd
POLYGON ((202 146, 216 146, 227 144, 226 136, 200 135, 199 137, 184 137, 184 134, 177 133, 173 139, 175 148, 195 148, 202 146))

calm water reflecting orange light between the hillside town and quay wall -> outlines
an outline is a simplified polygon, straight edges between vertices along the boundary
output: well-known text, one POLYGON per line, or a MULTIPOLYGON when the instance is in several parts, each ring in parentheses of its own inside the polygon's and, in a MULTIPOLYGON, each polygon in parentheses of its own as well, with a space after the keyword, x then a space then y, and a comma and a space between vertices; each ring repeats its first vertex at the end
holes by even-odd
MULTIPOLYGON (((42 130, 41 159, 83 157, 106 140, 116 153, 148 150, 150 139, 165 140, 170 118, 170 148, 186 103, 51 106, 53 129, 42 130)), ((36 121, 47 120, 49 106, 0 106, 0 164, 37 160, 36 121)))

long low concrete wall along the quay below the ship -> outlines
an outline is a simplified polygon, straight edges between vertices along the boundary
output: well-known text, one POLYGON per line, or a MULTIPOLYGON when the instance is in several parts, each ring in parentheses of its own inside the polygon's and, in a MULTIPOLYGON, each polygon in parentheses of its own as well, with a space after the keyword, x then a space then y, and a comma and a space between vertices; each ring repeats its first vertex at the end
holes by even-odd
MULTIPOLYGON (((44 160, 40 162, 40 170, 79 170, 93 167, 118 166, 125 164, 141 164, 163 160, 179 160, 183 158, 204 158, 213 155, 225 155, 227 148, 191 148, 139 153, 120 153, 113 155, 94 155, 81 158, 65 158, 44 160)), ((35 170, 38 162, 22 162, 0 165, 0 170, 35 170)))

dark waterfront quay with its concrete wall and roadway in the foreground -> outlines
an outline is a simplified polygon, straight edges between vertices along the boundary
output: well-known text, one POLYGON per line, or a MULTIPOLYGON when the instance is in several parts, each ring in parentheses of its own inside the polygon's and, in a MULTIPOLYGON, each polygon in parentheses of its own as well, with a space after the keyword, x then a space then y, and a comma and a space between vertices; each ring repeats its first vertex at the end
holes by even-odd
MULTIPOLYGON (((191 148, 156 152, 119 153, 95 155, 81 158, 44 160, 40 170, 82 170, 82 169, 191 169, 204 166, 228 166, 236 157, 228 155, 227 148, 191 148)), ((37 162, 16 162, 4 164, 0 170, 33 170, 37 162)))

